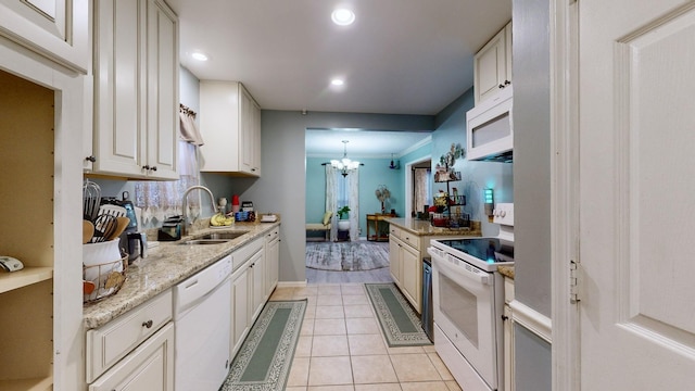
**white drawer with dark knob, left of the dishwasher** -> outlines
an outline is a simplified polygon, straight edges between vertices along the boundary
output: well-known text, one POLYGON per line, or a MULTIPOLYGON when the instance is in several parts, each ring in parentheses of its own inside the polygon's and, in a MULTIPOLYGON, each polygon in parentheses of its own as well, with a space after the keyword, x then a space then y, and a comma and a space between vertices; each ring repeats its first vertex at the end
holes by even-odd
POLYGON ((87 382, 92 382, 170 319, 172 290, 168 290, 106 325, 88 330, 87 382))

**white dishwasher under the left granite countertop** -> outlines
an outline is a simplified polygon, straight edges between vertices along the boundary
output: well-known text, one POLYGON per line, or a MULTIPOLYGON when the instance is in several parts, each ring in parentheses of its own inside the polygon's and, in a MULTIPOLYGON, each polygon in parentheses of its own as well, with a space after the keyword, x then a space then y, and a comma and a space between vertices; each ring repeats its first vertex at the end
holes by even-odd
POLYGON ((229 370, 231 255, 174 287, 176 391, 217 391, 229 370))

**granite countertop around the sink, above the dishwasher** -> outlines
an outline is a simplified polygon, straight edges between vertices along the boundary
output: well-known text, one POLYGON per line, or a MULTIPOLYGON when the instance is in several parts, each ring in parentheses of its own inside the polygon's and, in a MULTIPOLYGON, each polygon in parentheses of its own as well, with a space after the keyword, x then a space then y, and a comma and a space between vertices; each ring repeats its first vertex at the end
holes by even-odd
POLYGON ((248 231, 223 244, 184 245, 178 242, 160 242, 148 249, 148 256, 128 266, 126 281, 121 290, 106 299, 84 305, 85 329, 105 325, 117 316, 135 308, 206 266, 225 257, 242 245, 263 237, 280 225, 276 223, 237 223, 224 229, 203 228, 194 230, 181 240, 198 238, 211 232, 248 231))

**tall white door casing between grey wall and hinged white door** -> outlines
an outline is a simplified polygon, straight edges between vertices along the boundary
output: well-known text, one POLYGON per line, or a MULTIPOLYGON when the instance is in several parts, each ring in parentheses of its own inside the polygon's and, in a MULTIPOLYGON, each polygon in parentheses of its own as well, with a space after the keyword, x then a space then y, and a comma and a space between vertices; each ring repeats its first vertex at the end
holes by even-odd
MULTIPOLYGON (((551 274, 553 390, 579 391, 579 305, 570 302, 570 261, 579 258, 578 52, 576 1, 552 0, 551 38, 551 274)), ((581 268, 580 268, 581 270, 581 268)), ((581 293, 581 292, 580 292, 581 293)), ((580 298, 581 299, 581 298, 580 298)), ((516 312, 515 312, 516 314, 516 312)))

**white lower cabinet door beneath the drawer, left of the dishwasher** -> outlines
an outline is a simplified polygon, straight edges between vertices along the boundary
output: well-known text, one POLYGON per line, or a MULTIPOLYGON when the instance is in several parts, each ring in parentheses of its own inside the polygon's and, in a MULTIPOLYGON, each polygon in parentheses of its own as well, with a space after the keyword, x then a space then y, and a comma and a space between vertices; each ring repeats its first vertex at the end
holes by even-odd
POLYGON ((89 386, 89 391, 174 390, 174 326, 168 324, 89 386))

